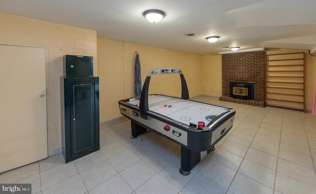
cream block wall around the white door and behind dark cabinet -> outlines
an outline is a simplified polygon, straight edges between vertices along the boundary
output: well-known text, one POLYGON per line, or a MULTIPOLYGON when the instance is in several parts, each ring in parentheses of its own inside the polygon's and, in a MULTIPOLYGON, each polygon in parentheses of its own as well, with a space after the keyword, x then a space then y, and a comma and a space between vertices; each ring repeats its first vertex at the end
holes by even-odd
POLYGON ((93 56, 94 73, 97 75, 96 31, 0 13, 0 44, 45 48, 48 154, 60 153, 63 55, 93 56))

